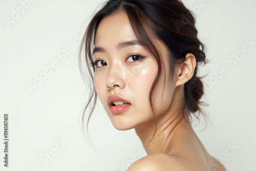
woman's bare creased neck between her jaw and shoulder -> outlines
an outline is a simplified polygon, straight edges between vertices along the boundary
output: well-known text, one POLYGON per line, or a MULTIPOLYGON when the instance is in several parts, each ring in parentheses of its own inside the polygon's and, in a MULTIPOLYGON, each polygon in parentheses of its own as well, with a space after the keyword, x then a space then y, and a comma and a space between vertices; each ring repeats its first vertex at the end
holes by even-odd
POLYGON ((168 154, 170 142, 172 142, 175 134, 193 131, 187 109, 185 108, 183 111, 177 108, 177 106, 180 106, 180 101, 177 100, 180 94, 179 92, 175 94, 169 108, 157 117, 157 127, 155 127, 154 119, 135 127, 136 134, 140 138, 147 155, 157 153, 168 154), (153 138, 154 132, 155 136, 153 138))

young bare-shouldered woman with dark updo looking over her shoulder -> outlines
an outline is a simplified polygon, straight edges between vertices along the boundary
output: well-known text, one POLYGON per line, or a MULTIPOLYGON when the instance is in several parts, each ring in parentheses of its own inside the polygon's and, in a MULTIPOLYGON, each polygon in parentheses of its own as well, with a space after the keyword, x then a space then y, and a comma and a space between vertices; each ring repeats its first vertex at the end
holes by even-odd
POLYGON ((95 88, 83 116, 93 101, 90 119, 98 95, 116 129, 135 129, 148 156, 129 171, 226 170, 189 121, 202 113, 197 66, 207 61, 195 18, 182 2, 108 1, 93 16, 80 56, 83 50, 95 88))

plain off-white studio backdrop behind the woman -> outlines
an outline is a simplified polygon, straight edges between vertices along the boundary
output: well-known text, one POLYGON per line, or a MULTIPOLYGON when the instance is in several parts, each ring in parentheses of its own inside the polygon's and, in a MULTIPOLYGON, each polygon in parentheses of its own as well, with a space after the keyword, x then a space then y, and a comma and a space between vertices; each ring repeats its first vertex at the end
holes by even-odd
MULTIPOLYGON (((99 101, 89 127, 95 149, 81 132, 89 89, 78 70, 78 46, 102 2, 0 1, 0 170, 122 171, 145 156, 134 130, 115 130, 99 101)), ((203 121, 193 122, 195 131, 228 170, 256 170, 256 3, 183 2, 197 16, 209 60, 199 74, 208 74, 202 100, 210 122, 205 130, 203 121)))

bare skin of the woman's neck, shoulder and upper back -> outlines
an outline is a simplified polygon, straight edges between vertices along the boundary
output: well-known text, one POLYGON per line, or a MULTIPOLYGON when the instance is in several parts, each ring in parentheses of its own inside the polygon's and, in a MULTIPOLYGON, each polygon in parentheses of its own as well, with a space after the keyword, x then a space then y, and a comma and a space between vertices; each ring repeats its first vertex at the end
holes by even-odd
MULTIPOLYGON (((173 98, 184 95, 183 86, 176 90, 173 98)), ((170 109, 175 105, 173 103, 170 109)), ((156 135, 149 144, 148 137, 151 138, 154 132, 154 120, 137 126, 135 131, 148 156, 133 163, 128 170, 225 171, 225 167, 208 154, 188 120, 188 115, 177 118, 172 113, 162 114, 158 117, 156 135)))

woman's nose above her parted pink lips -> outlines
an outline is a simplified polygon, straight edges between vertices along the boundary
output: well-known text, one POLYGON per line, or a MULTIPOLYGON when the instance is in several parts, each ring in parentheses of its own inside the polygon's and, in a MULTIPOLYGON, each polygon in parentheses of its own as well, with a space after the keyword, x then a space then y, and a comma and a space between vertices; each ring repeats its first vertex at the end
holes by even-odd
POLYGON ((106 77, 106 86, 110 89, 115 89, 116 87, 123 89, 125 87, 121 64, 115 63, 115 65, 110 67, 106 77))

